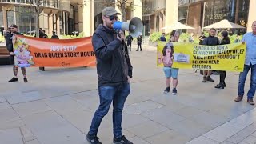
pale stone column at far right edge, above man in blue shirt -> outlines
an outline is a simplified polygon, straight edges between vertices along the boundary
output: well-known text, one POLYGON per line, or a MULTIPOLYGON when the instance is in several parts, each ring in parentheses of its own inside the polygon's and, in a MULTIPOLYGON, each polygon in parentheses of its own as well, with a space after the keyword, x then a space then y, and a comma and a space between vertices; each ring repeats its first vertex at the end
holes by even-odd
POLYGON ((252 31, 251 26, 254 21, 256 21, 255 14, 256 14, 256 0, 250 0, 249 6, 249 14, 248 14, 248 22, 247 22, 247 32, 252 31))

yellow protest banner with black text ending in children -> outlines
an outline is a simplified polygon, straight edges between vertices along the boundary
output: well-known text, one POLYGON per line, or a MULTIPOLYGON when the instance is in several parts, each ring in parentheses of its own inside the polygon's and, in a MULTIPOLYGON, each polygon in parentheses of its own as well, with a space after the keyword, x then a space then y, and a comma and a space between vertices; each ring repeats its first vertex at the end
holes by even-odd
MULTIPOLYGON (((157 66, 163 66, 162 51, 167 42, 158 42, 157 66)), ((202 46, 191 43, 173 42, 174 68, 200 70, 242 71, 246 45, 234 43, 229 45, 202 46)))

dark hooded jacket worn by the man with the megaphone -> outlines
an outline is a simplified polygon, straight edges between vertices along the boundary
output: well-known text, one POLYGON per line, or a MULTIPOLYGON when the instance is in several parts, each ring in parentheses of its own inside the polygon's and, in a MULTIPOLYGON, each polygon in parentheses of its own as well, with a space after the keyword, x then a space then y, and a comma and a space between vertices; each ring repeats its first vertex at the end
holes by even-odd
POLYGON ((115 30, 98 26, 92 44, 97 59, 98 86, 117 86, 132 78, 130 58, 122 51, 122 42, 116 38, 115 30))

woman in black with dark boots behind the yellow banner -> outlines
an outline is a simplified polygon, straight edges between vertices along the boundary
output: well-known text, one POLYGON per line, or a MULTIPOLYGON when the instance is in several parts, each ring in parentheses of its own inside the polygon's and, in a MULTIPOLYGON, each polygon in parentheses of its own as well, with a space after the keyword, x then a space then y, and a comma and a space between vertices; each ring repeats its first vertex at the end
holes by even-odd
MULTIPOLYGON (((230 44, 230 38, 227 31, 222 31, 222 43, 221 45, 230 44)), ((219 73, 219 84, 215 86, 215 88, 222 88, 226 87, 225 78, 226 78, 226 71, 218 71, 219 73)))

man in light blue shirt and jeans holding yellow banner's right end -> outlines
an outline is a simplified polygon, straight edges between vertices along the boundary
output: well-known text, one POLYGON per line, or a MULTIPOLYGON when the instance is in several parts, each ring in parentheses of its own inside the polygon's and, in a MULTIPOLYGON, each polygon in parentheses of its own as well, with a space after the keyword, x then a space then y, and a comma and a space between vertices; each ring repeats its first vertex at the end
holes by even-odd
POLYGON ((246 61, 244 64, 243 72, 239 75, 238 83, 238 97, 234 99, 235 102, 242 101, 244 95, 244 88, 246 77, 251 69, 250 74, 250 90, 247 93, 247 102, 254 105, 254 94, 256 89, 256 21, 252 24, 252 31, 244 34, 242 43, 246 43, 246 61))

